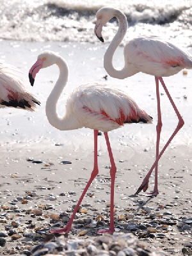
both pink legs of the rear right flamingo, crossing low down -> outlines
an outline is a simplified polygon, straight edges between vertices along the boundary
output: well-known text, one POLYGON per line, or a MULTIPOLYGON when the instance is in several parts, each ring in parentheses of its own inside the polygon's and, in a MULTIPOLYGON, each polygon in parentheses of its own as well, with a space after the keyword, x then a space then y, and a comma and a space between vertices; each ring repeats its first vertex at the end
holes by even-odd
POLYGON ((179 122, 178 122, 177 127, 175 128, 175 131, 173 132, 172 136, 170 136, 169 140, 164 145, 163 150, 161 150, 160 154, 157 156, 157 154, 159 153, 159 149, 157 149, 157 147, 159 148, 159 141, 158 140, 160 139, 161 126, 162 126, 161 118, 159 117, 161 115, 161 110, 159 112, 159 109, 160 109, 160 99, 157 96, 157 112, 158 112, 158 124, 159 124, 159 127, 158 127, 158 124, 157 124, 157 143, 156 143, 157 152, 156 152, 156 161, 154 162, 154 164, 150 168, 150 170, 147 173, 146 177, 143 179, 143 182, 142 182, 140 188, 138 188, 138 191, 136 191, 135 195, 138 195, 138 193, 140 193, 141 190, 143 190, 144 192, 147 190, 147 188, 148 188, 148 180, 149 180, 149 177, 150 177, 150 175, 152 173, 152 170, 154 170, 154 168, 156 168, 156 171, 155 171, 155 186, 154 186, 154 192, 152 192, 151 195, 152 196, 157 196, 158 195, 158 193, 159 193, 158 192, 158 188, 157 188, 157 166, 158 166, 158 161, 161 158, 161 156, 163 155, 164 150, 166 150, 166 148, 171 143, 171 141, 173 140, 173 138, 175 137, 177 132, 179 132, 180 128, 184 125, 184 120, 182 119, 182 116, 180 115, 177 107, 175 106, 175 103, 173 102, 173 99, 172 99, 170 93, 168 92, 168 89, 166 88, 166 85, 164 84, 164 81, 163 81, 162 77, 156 77, 157 92, 159 92, 159 89, 158 89, 159 84, 157 83, 157 79, 159 79, 159 81, 161 82, 161 84, 162 84, 162 86, 164 88, 164 91, 166 92, 166 95, 168 96, 168 99, 170 100, 170 102, 171 102, 171 104, 173 106, 173 109, 175 110, 175 113, 176 113, 176 115, 177 115, 177 117, 179 119, 179 122))

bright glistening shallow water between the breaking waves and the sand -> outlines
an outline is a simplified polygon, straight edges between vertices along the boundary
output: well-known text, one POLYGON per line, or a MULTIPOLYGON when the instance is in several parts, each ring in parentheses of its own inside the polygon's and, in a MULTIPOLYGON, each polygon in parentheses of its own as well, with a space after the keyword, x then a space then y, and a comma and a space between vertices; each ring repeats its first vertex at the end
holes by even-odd
MULTIPOLYGON (((140 108, 145 109, 154 118, 154 124, 131 124, 115 131, 109 132, 109 138, 115 147, 154 147, 156 142, 156 87, 154 77, 147 74, 138 73, 127 79, 114 79, 108 76, 106 81, 106 71, 103 68, 102 58, 108 44, 95 45, 90 43, 70 43, 70 42, 13 42, 9 40, 1 41, 3 51, 0 52, 0 60, 6 61, 24 72, 26 86, 31 89, 42 102, 38 106, 38 111, 30 113, 22 109, 1 109, 1 132, 0 141, 2 145, 6 143, 64 143, 67 147, 92 148, 93 131, 90 129, 79 129, 74 131, 59 131, 52 127, 45 115, 45 101, 51 92, 56 79, 58 78, 58 67, 56 65, 40 70, 35 79, 33 88, 29 85, 28 72, 31 65, 35 63, 39 52, 49 49, 58 52, 68 63, 69 77, 59 101, 58 113, 65 114, 65 102, 70 94, 80 84, 92 81, 111 83, 118 86, 125 93, 134 99, 140 108)), ((118 47, 115 54, 115 63, 124 63, 122 47, 118 47)), ((185 125, 175 136, 172 145, 191 145, 191 119, 189 111, 192 104, 191 70, 187 76, 182 72, 172 77, 165 77, 164 81, 168 90, 179 108, 185 120, 185 125), (187 95, 187 98, 185 97, 187 95)), ((171 132, 177 126, 177 116, 175 115, 170 102, 168 101, 163 88, 161 88, 161 104, 163 116, 163 128, 161 143, 164 145, 171 132)), ((103 136, 102 136, 103 137, 103 136)), ((103 141, 102 141, 103 143, 103 141)), ((41 144, 42 145, 42 144, 41 144)), ((103 147, 103 146, 101 146, 103 147)))

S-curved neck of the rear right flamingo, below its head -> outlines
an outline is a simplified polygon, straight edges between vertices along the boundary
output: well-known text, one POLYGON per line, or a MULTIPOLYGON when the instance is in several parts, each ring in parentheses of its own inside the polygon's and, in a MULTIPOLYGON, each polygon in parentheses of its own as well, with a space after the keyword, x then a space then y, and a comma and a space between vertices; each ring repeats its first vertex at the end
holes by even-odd
POLYGON ((116 10, 115 17, 116 19, 118 19, 118 31, 114 36, 113 40, 111 41, 111 44, 109 45, 106 53, 104 54, 104 68, 108 72, 109 76, 115 77, 118 79, 124 79, 126 77, 136 74, 138 71, 135 69, 132 69, 127 64, 126 60, 125 60, 124 68, 122 68, 122 70, 116 70, 113 67, 113 55, 118 45, 120 45, 120 43, 122 42, 128 27, 127 18, 122 12, 116 10))

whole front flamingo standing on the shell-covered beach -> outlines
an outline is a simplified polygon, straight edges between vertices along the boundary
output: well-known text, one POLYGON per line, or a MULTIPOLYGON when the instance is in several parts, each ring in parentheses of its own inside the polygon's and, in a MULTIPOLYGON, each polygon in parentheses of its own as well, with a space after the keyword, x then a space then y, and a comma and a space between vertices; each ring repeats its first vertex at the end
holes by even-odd
POLYGON ((95 179, 99 173, 97 163, 97 135, 100 130, 104 132, 111 163, 111 206, 109 229, 99 230, 98 234, 103 232, 112 234, 115 231, 113 209, 116 166, 109 143, 108 131, 122 127, 125 123, 142 122, 144 124, 150 124, 152 122, 152 117, 140 109, 136 102, 125 95, 124 92, 103 83, 88 83, 76 88, 70 97, 68 97, 65 116, 58 116, 56 104, 68 80, 68 67, 66 61, 61 58, 60 55, 52 51, 44 51, 40 53, 37 61, 29 70, 29 81, 33 86, 38 71, 41 68, 46 68, 54 64, 58 65, 60 76, 46 102, 45 111, 47 119, 52 126, 61 131, 79 129, 81 127, 93 129, 94 163, 90 180, 88 180, 67 225, 58 230, 51 230, 51 232, 58 234, 66 234, 70 232, 72 221, 79 209, 79 205, 81 204, 86 191, 90 187, 90 184, 92 184, 93 179, 95 179))

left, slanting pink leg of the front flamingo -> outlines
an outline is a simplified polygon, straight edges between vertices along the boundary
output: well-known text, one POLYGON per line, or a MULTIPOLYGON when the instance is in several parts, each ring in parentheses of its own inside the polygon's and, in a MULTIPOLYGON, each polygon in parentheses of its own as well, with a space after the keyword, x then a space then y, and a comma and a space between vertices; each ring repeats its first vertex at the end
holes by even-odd
POLYGON ((92 171, 90 180, 86 184, 86 187, 84 188, 84 191, 83 191, 81 197, 79 198, 79 202, 77 203, 76 208, 74 209, 74 212, 73 212, 72 216, 70 217, 70 220, 68 221, 67 225, 61 229, 51 230, 51 233, 67 234, 68 232, 70 232, 70 230, 72 229, 72 222, 76 216, 76 213, 77 213, 79 206, 84 198, 84 195, 85 195, 86 191, 88 190, 88 188, 90 187, 90 185, 92 184, 93 179, 95 179, 95 177, 99 173, 98 161, 97 161, 97 136, 98 136, 98 131, 94 130, 94 166, 93 166, 93 171, 92 171))

